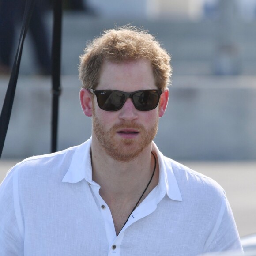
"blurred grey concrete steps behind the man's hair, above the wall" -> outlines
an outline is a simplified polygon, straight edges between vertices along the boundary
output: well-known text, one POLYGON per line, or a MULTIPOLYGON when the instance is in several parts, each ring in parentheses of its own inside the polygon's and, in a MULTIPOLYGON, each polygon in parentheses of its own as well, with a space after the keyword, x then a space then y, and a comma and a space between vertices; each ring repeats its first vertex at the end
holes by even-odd
MULTIPOLYGON (((52 31, 52 13, 45 15, 49 40, 52 31)), ((80 12, 64 12, 62 34, 62 74, 77 75, 79 56, 83 54, 87 41, 98 36, 103 29, 131 23, 128 18, 103 18, 88 16, 80 12)), ((213 75, 213 62, 220 46, 218 23, 213 20, 196 22, 173 20, 132 19, 133 26, 150 30, 172 55, 173 70, 177 75, 213 75)), ((240 75, 255 75, 256 22, 239 23, 233 35, 237 47, 240 75)), ((232 58, 232 56, 231 56, 232 58)), ((30 75, 37 72, 33 44, 29 35, 26 39, 20 72, 30 75)))

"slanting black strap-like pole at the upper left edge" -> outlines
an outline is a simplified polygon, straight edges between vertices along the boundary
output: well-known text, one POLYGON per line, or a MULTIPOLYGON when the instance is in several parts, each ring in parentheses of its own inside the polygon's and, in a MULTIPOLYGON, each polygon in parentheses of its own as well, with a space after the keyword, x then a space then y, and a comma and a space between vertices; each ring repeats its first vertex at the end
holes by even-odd
POLYGON ((21 56, 22 56, 22 50, 23 50, 23 44, 24 40, 26 37, 26 32, 28 30, 29 24, 30 24, 30 19, 31 15, 34 9, 34 4, 36 0, 26 0, 26 5, 25 5, 25 11, 23 15, 23 22, 22 22, 22 27, 21 27, 21 33, 19 37, 19 44, 18 44, 18 49, 15 55, 15 60, 14 64, 12 66, 11 70, 11 77, 9 80, 8 88, 5 94, 4 98, 4 104, 2 107, 1 111, 1 116, 0 116, 0 158, 2 155, 2 151, 4 148, 4 141, 6 138, 7 130, 8 130, 8 125, 11 117, 11 110, 12 110, 12 105, 14 101, 14 96, 15 96, 15 90, 16 90, 16 85, 17 85, 17 80, 19 76, 19 66, 20 66, 20 61, 21 61, 21 56))

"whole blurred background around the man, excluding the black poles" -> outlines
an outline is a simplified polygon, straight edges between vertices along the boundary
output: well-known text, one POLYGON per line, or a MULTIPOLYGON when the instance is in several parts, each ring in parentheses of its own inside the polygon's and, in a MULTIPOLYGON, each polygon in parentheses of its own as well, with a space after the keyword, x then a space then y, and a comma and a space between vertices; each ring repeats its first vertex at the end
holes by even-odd
MULTIPOLYGON (((7 14, 4 8, 10 6, 3 3, 11 1, 1 2, 0 13, 7 14)), ((35 19, 37 26, 31 27, 23 49, 0 161, 1 179, 20 159, 50 152, 53 12, 51 0, 39 3, 36 16, 41 21, 35 19)), ((240 234, 256 232, 256 0, 63 0, 63 4, 58 150, 83 143, 91 134, 91 120, 79 105, 78 65, 86 42, 103 29, 128 23, 143 26, 172 56, 169 106, 155 142, 166 156, 218 181, 226 190, 240 234)), ((0 106, 10 76, 10 64, 3 60, 13 61, 20 31, 20 19, 10 17, 0 21, 0 106)))

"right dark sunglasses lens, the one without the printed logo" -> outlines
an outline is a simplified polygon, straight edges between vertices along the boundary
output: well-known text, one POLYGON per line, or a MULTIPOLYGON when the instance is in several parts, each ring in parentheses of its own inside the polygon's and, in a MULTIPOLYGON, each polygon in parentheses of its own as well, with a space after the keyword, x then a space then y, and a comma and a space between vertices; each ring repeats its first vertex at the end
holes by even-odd
POLYGON ((136 109, 149 111, 155 109, 158 105, 160 95, 154 90, 145 90, 133 94, 132 100, 136 109))

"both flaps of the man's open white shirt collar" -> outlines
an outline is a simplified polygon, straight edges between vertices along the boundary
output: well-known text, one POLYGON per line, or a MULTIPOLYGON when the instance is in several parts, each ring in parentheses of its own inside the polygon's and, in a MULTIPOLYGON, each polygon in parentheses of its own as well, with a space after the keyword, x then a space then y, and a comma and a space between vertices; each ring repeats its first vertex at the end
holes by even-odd
MULTIPOLYGON (((91 137, 86 142, 78 146, 72 157, 71 164, 65 174, 62 182, 77 183, 85 179, 90 184, 96 184, 92 181, 92 168, 90 159, 91 137)), ((171 160, 166 158, 158 149, 156 144, 152 143, 152 149, 157 154, 159 164, 159 183, 160 191, 166 192, 167 196, 176 201, 182 201, 181 192, 174 176, 171 160)))

